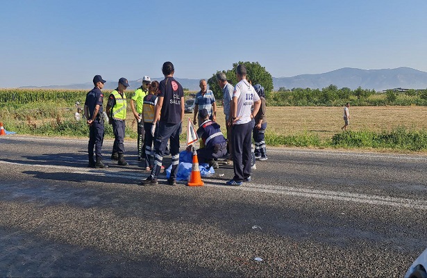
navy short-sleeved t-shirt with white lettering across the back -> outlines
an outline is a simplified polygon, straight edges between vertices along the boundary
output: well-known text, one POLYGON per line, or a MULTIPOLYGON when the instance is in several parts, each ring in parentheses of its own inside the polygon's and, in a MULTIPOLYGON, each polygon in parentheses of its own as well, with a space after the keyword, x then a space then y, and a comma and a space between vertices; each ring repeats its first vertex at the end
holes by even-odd
POLYGON ((163 97, 160 122, 178 124, 181 122, 181 98, 184 97, 183 86, 174 77, 160 81, 157 97, 163 97))

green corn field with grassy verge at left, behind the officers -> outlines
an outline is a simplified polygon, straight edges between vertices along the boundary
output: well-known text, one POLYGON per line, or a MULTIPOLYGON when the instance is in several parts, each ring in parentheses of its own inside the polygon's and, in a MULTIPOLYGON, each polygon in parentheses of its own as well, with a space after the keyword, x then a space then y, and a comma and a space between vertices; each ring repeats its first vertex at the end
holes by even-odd
MULTIPOLYGON (((85 136, 88 134, 85 120, 76 121, 76 101, 80 103, 81 114, 89 90, 49 89, 0 89, 0 122, 8 131, 45 136, 85 136)), ((111 91, 103 91, 104 106, 111 91)), ((133 91, 126 92, 131 98, 133 91)), ((128 107, 128 115, 132 116, 128 107)), ((126 136, 135 138, 136 128, 131 121, 126 126, 126 136), (135 129, 135 131, 134 131, 135 129)), ((114 137, 107 124, 106 136, 114 137)))

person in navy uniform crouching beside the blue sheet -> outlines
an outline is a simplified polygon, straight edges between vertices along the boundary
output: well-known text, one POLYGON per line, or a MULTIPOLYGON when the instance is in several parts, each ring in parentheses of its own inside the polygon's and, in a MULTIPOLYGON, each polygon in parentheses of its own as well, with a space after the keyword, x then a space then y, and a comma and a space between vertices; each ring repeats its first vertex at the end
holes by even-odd
POLYGON ((200 149, 197 149, 199 163, 209 163, 209 166, 217 169, 217 159, 227 152, 227 140, 221 132, 221 126, 209 120, 209 113, 206 109, 199 111, 199 117, 202 120, 197 129, 197 135, 202 140, 200 149))

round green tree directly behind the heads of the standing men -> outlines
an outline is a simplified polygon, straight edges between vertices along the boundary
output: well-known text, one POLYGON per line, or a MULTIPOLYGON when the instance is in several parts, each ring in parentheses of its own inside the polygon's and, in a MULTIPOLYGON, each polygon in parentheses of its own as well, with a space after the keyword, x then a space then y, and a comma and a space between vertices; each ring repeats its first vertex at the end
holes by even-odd
MULTIPOLYGON (((240 65, 240 64, 246 65, 246 70, 247 70, 246 78, 252 82, 252 85, 255 85, 258 83, 261 84, 262 87, 264 87, 264 90, 266 93, 271 92, 273 90, 273 77, 271 77, 271 74, 267 72, 267 70, 265 70, 265 67, 262 67, 258 62, 233 63, 233 69, 223 70, 222 72, 226 74, 227 79, 232 85, 235 85, 237 83, 235 70, 237 68, 237 65, 240 65)), ((222 90, 221 88, 219 88, 216 73, 212 74, 212 77, 208 79, 208 84, 209 84, 210 90, 214 92, 215 97, 217 97, 218 99, 222 99, 222 90)))

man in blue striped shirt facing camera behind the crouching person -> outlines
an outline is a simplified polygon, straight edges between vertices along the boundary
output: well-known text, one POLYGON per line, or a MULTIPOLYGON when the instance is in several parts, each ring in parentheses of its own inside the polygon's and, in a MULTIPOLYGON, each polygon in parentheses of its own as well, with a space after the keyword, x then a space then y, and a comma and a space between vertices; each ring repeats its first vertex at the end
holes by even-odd
MULTIPOLYGON (((201 79, 199 83, 200 92, 196 94, 194 100, 194 119, 193 123, 196 124, 197 113, 202 109, 206 109, 209 113, 209 119, 212 121, 217 120, 217 104, 215 103, 215 96, 211 90, 208 90, 208 83, 205 79, 201 79)), ((201 124, 201 118, 199 120, 198 126, 201 124)))

